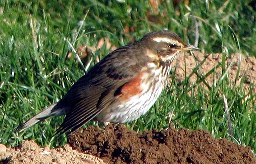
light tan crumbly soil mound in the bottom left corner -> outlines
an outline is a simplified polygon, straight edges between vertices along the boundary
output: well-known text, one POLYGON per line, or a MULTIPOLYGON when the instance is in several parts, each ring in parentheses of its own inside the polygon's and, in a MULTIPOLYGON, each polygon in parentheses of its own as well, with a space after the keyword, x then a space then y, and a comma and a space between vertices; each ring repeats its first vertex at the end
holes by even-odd
POLYGON ((16 149, 0 145, 0 164, 104 164, 92 155, 79 153, 69 145, 63 148, 41 148, 33 141, 24 141, 16 149))

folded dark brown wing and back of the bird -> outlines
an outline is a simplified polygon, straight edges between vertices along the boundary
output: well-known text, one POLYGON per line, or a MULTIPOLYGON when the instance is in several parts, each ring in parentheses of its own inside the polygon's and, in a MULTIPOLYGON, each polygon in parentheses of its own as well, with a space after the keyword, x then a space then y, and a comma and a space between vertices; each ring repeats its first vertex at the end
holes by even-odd
POLYGON ((60 102, 59 106, 68 105, 69 111, 55 136, 78 129, 119 98, 121 91, 129 90, 141 69, 131 55, 134 52, 126 47, 117 49, 72 86, 60 102))

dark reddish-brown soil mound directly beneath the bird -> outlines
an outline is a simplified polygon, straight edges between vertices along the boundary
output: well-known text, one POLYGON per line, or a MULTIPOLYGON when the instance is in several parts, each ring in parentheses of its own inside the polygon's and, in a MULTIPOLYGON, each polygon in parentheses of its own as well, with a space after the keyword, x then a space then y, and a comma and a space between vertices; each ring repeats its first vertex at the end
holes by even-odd
POLYGON ((69 137, 70 145, 109 164, 256 164, 247 146, 214 139, 207 131, 166 130, 136 133, 123 125, 90 126, 69 137))

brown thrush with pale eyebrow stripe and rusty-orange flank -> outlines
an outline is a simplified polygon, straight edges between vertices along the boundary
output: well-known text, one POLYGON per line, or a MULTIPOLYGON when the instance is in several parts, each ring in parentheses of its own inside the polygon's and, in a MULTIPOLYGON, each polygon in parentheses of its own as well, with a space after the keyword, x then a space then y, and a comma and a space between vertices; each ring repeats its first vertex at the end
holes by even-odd
POLYGON ((187 45, 174 32, 149 32, 135 43, 109 53, 73 84, 66 95, 30 120, 19 132, 51 116, 65 115, 55 135, 69 135, 90 120, 126 123, 138 119, 154 105, 167 85, 172 62, 187 45))

